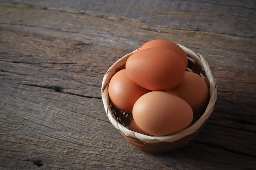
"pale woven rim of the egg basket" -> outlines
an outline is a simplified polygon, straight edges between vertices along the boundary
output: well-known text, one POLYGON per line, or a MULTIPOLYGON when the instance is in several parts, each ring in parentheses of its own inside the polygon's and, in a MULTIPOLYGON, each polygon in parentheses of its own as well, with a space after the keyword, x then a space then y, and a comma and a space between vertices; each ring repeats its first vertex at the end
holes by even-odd
POLYGON ((195 53, 191 49, 188 49, 187 47, 182 46, 180 44, 177 44, 177 45, 180 46, 185 51, 185 53, 188 57, 192 58, 193 60, 195 60, 195 62, 197 62, 197 64, 202 66, 202 68, 204 69, 205 75, 209 80, 210 99, 209 99, 209 103, 207 105, 205 112, 198 119, 198 121, 196 121, 193 125, 189 126, 188 128, 186 128, 180 132, 177 132, 177 133, 171 134, 171 135, 167 135, 167 136, 144 135, 144 134, 141 134, 138 132, 134 132, 134 131, 126 128, 122 124, 120 124, 119 121, 117 121, 115 116, 112 114, 112 110, 109 105, 108 82, 112 78, 112 75, 115 74, 117 68, 123 66, 126 63, 126 60, 128 59, 128 57, 130 57, 130 55, 132 55, 133 53, 135 53, 139 50, 139 49, 136 49, 136 50, 132 51, 131 53, 128 53, 128 54, 124 55, 123 57, 119 58, 119 60, 117 60, 108 69, 108 71, 103 76, 102 86, 101 86, 102 101, 103 101, 104 109, 106 111, 108 119, 110 120, 111 124, 113 126, 115 126, 115 128, 117 128, 117 130, 121 131, 125 136, 138 139, 138 140, 143 141, 148 144, 155 144, 155 143, 164 142, 164 141, 173 142, 173 141, 179 140, 183 137, 186 137, 187 135, 191 135, 192 133, 194 133, 196 130, 198 130, 202 126, 202 124, 204 124, 204 122, 209 118, 209 116, 213 112, 214 106, 215 106, 216 100, 217 100, 217 87, 216 87, 216 80, 213 77, 211 68, 209 66, 209 62, 200 53, 195 53))

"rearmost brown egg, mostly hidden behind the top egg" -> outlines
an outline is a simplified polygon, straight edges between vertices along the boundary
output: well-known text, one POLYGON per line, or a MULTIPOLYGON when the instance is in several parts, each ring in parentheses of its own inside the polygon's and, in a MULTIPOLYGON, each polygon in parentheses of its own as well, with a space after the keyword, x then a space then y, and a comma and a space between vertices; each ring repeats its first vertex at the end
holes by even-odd
POLYGON ((177 53, 177 55, 179 55, 184 62, 184 68, 186 69, 186 67, 188 66, 188 58, 186 56, 186 53, 177 44, 175 44, 171 41, 168 41, 168 40, 157 39, 157 40, 151 40, 151 41, 146 42, 139 48, 139 50, 148 49, 148 48, 152 48, 152 47, 166 48, 166 49, 169 49, 169 50, 177 53))

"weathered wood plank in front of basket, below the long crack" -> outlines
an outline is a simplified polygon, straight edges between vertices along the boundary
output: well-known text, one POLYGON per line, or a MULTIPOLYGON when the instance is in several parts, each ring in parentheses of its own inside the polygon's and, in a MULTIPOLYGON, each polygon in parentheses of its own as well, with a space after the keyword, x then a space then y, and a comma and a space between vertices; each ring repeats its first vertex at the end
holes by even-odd
MULTIPOLYGON (((25 85, 1 86, 1 89, 1 96, 9 101, 9 105, 15 106, 5 106, 4 108, 12 110, 1 112, 1 124, 7 128, 1 132, 4 137, 1 138, 1 147, 5 148, 5 157, 2 159, 6 163, 2 166, 3 169, 12 166, 20 169, 32 168, 33 163, 27 159, 42 159, 45 161, 44 168, 47 169, 60 166, 63 169, 72 166, 76 166, 76 169, 104 169, 101 162, 102 159, 106 160, 106 157, 115 158, 104 161, 106 167, 131 169, 144 167, 145 162, 149 163, 145 169, 238 169, 236 166, 241 164, 246 164, 249 169, 255 166, 254 158, 232 153, 217 146, 216 138, 219 137, 220 142, 225 136, 230 137, 229 135, 234 134, 223 132, 222 136, 213 138, 219 134, 219 131, 216 133, 216 126, 206 125, 200 136, 182 150, 157 155, 144 154, 131 147, 106 121, 100 99, 92 100, 25 85), (22 94, 19 93, 26 96, 21 98, 22 94), (10 95, 12 97, 8 100, 10 95), (209 143, 213 141, 216 145, 205 144, 202 142, 204 140, 209 143), (115 148, 115 145, 118 147, 115 148), (120 157, 116 157, 117 154, 120 157), (134 157, 136 159, 133 159, 134 157), (127 162, 126 165, 123 161, 127 162)), ((2 106, 3 102, 1 108, 2 106)), ((233 140, 238 142, 238 139, 233 140)))

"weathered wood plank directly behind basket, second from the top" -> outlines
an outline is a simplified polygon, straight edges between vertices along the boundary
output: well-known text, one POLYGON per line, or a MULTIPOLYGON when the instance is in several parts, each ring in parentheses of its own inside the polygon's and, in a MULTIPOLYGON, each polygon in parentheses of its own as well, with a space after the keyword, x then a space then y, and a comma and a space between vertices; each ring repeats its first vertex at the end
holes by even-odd
MULTIPOLYGON (((249 68, 255 71, 255 49, 250 48, 256 45, 255 38, 206 31, 191 32, 166 27, 162 27, 161 31, 152 31, 157 27, 133 19, 119 22, 119 17, 113 17, 112 15, 100 18, 97 15, 60 13, 56 10, 28 10, 27 8, 16 9, 13 7, 7 9, 0 11, 0 16, 4 16, 0 18, 2 20, 0 26, 13 31, 24 30, 26 32, 29 29, 30 33, 44 35, 50 39, 52 37, 66 38, 96 46, 128 49, 127 52, 139 48, 148 40, 164 38, 201 53, 207 57, 211 65, 249 68), (47 21, 45 16, 49 16, 47 21), (20 20, 17 21, 11 18, 20 18, 20 20), (58 24, 58 20, 64 18, 69 23, 58 24), (119 24, 116 24, 117 22, 119 24), (76 25, 75 28, 73 25, 76 25), (99 25, 101 26, 99 27, 99 25), (197 41, 195 42, 195 40, 197 41)), ((182 18, 182 15, 180 17, 182 18)))

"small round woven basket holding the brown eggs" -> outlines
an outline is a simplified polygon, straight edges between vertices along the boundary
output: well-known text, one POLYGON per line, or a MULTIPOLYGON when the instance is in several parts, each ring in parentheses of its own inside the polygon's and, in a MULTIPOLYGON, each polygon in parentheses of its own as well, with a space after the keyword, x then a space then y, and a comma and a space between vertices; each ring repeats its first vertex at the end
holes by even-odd
POLYGON ((122 112, 115 108, 109 98, 108 83, 110 79, 115 73, 117 73, 117 71, 125 68, 126 60, 139 49, 136 49, 117 60, 117 62, 108 69, 103 77, 101 96, 108 119, 132 146, 142 152, 167 152, 186 146, 198 136, 200 130, 207 123, 209 116, 214 111, 217 99, 217 88, 216 81, 212 75, 208 61, 199 53, 195 53, 182 45, 179 46, 185 51, 188 57, 189 63, 186 71, 191 71, 200 75, 207 83, 210 93, 210 99, 204 113, 202 113, 200 117, 196 118, 191 126, 180 132, 167 136, 148 136, 129 130, 128 126, 132 119, 132 114, 122 112))

